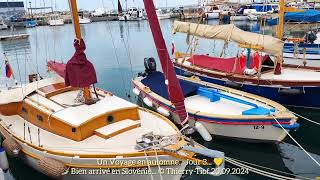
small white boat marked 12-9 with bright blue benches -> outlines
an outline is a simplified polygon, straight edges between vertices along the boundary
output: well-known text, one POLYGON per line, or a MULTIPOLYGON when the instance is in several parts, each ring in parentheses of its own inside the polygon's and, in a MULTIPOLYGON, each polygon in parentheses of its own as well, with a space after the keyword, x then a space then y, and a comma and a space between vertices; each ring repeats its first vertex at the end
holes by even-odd
MULTIPOLYGON (((207 83, 196 76, 178 78, 189 118, 200 122, 214 136, 254 142, 281 142, 287 134, 278 122, 289 131, 299 127, 297 118, 276 102, 207 83)), ((150 108, 176 119, 176 108, 170 102, 161 72, 137 77, 133 84, 134 92, 150 108)))

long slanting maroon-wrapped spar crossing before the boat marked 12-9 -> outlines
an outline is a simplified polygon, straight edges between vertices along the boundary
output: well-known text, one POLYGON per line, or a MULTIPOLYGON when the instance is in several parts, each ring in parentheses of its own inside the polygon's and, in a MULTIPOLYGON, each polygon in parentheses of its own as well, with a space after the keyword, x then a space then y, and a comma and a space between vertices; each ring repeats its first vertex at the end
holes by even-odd
POLYGON ((176 112, 180 118, 180 124, 184 125, 188 120, 188 114, 184 105, 184 95, 180 87, 179 80, 174 71, 167 46, 162 36, 159 20, 153 0, 143 0, 146 13, 149 19, 149 25, 152 32, 153 40, 157 48, 158 56, 161 62, 162 71, 165 76, 168 94, 171 102, 176 108, 176 112))

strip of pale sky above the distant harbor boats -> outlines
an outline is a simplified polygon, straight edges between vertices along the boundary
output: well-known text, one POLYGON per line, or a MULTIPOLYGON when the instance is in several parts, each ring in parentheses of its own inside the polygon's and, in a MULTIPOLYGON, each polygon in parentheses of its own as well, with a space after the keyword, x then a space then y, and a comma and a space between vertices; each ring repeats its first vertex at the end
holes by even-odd
MULTIPOLYGON (((6 0, 1 0, 2 2, 6 2, 6 0)), ((24 1, 24 3, 28 4, 31 2, 32 7, 43 7, 43 6, 52 6, 57 10, 68 10, 68 0, 8 0, 10 1, 24 1)), ((126 7, 126 0, 120 0, 122 3, 122 7, 126 7)), ((182 6, 182 5, 193 5, 198 4, 199 0, 154 0, 154 3, 157 7, 168 7, 173 6, 182 6)), ((106 7, 110 9, 117 8, 117 0, 77 0, 78 8, 85 10, 94 10, 101 7, 106 7)), ((128 7, 142 7, 143 0, 127 0, 128 7)))

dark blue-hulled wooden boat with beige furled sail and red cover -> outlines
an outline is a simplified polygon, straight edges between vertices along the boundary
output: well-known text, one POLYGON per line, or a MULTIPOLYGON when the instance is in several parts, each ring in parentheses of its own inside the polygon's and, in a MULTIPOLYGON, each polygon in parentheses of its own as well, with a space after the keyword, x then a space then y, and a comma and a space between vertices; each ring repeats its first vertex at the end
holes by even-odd
MULTIPOLYGON (((218 58, 191 54, 173 59, 180 75, 193 74, 201 80, 237 88, 272 99, 283 105, 318 109, 320 102, 320 71, 317 68, 282 64, 283 41, 271 36, 245 32, 234 25, 198 25, 175 22, 175 32, 188 33, 207 39, 233 41, 240 47, 255 49, 250 66, 240 57, 218 58), (261 65, 260 65, 261 64, 261 65)), ((243 57, 246 61, 246 57, 243 57)))

